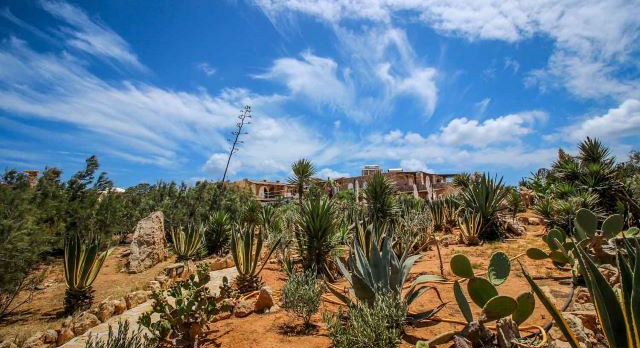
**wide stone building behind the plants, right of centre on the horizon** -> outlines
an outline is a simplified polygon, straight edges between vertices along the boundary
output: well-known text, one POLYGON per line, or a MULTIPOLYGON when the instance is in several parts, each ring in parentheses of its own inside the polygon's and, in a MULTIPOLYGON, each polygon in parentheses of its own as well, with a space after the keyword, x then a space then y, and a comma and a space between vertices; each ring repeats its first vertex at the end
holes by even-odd
POLYGON ((415 197, 427 200, 440 198, 451 191, 451 178, 455 174, 432 174, 422 171, 407 171, 402 168, 389 169, 383 172, 380 166, 366 165, 362 168, 360 176, 349 178, 338 178, 334 182, 337 191, 354 190, 356 197, 367 187, 369 178, 374 173, 382 173, 385 177, 396 184, 396 189, 402 193, 410 193, 415 197))

